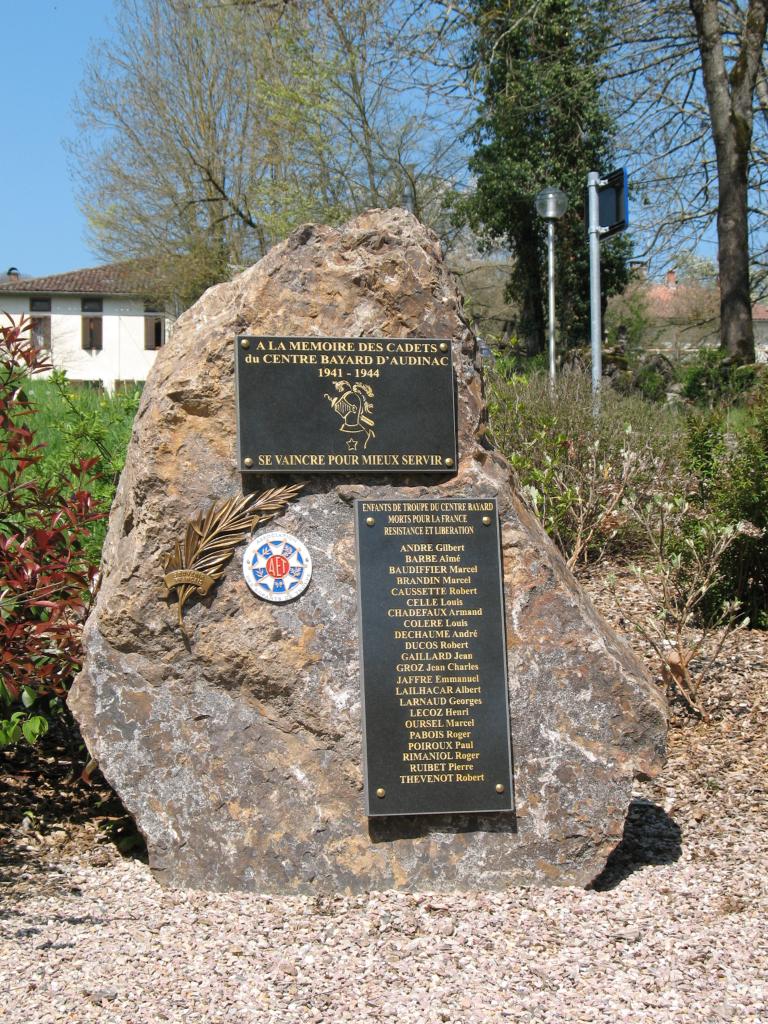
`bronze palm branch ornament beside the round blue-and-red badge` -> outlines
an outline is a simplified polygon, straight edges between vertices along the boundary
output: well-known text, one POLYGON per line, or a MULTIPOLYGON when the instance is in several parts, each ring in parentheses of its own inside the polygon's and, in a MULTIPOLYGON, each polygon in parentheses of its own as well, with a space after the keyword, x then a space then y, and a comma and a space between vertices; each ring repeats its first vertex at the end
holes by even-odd
POLYGON ((191 520, 183 544, 176 541, 166 559, 163 577, 166 596, 176 591, 178 624, 182 631, 184 605, 193 594, 205 596, 224 574, 224 566, 238 545, 284 509, 303 486, 303 483, 291 483, 258 495, 214 502, 207 512, 191 520))

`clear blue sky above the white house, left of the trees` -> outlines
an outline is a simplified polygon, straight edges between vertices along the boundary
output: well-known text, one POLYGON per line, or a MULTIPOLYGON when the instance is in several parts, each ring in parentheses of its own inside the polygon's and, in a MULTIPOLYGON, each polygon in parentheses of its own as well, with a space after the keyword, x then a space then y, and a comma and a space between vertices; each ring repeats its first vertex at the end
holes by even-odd
POLYGON ((89 47, 109 33, 112 0, 0 0, 3 160, 0 273, 94 266, 67 166, 72 105, 89 47))

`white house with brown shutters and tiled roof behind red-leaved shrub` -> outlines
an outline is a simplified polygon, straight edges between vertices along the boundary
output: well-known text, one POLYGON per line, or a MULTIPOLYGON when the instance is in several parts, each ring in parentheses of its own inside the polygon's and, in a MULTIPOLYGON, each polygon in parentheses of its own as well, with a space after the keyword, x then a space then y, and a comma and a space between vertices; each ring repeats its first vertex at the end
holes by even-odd
POLYGON ((143 381, 170 318, 141 295, 135 269, 112 263, 47 278, 0 275, 0 313, 32 317, 32 336, 72 381, 143 381))

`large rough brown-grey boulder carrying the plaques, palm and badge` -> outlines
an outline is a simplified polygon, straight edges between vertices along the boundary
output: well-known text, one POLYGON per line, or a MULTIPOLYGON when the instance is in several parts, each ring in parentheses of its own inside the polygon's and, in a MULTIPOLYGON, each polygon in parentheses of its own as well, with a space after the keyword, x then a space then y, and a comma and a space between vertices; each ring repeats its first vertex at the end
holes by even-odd
POLYGON ((586 885, 621 840, 633 776, 662 763, 665 702, 485 441, 475 352, 435 237, 401 210, 302 227, 178 321, 136 417, 71 694, 160 881, 304 893, 586 885), (453 339, 460 465, 452 477, 307 478, 274 525, 310 547, 309 589, 257 600, 241 550, 187 605, 186 639, 164 560, 194 516, 243 493, 238 333, 453 339), (499 500, 512 815, 364 813, 352 502, 422 496, 499 500))

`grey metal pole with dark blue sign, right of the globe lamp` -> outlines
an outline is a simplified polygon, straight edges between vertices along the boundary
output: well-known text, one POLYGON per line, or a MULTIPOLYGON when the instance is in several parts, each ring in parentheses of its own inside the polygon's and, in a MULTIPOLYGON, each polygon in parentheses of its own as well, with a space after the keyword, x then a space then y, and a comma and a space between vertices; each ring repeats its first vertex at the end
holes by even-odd
POLYGON ((606 178, 597 171, 587 175, 587 230, 590 244, 590 337, 592 342, 592 394, 599 409, 603 374, 602 307, 600 299, 600 239, 624 231, 629 224, 627 170, 622 167, 606 178))

